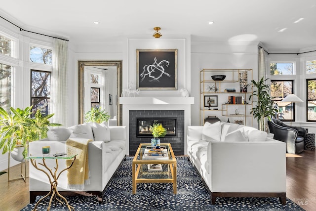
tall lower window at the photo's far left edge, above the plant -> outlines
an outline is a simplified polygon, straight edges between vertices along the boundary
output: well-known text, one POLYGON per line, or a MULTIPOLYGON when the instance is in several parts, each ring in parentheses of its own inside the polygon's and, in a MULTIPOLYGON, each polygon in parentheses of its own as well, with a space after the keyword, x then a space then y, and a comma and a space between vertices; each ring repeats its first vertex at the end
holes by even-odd
POLYGON ((12 66, 0 63, 0 106, 9 111, 11 107, 12 66))

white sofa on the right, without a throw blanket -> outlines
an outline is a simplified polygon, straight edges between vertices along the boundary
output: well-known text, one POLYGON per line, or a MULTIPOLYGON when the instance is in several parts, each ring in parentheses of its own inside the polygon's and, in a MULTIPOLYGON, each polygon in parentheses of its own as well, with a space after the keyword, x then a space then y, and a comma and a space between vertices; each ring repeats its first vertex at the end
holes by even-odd
POLYGON ((189 126, 188 156, 216 197, 286 200, 286 146, 253 127, 232 123, 189 126))

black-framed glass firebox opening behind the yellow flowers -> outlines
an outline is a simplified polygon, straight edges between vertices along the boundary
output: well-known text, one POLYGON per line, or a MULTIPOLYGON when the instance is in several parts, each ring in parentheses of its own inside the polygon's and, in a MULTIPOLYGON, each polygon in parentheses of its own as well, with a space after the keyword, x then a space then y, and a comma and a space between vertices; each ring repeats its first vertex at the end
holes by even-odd
POLYGON ((153 137, 150 126, 154 123, 161 123, 166 128, 166 136, 177 136, 176 118, 137 118, 136 137, 153 137))

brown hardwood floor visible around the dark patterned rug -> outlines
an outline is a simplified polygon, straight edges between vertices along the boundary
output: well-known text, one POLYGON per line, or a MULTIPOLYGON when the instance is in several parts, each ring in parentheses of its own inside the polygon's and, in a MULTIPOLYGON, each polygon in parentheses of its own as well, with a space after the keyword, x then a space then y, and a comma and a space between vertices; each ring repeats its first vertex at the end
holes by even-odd
MULTIPOLYGON (((288 155, 286 171, 286 197, 306 211, 314 211, 316 207, 315 151, 305 150, 299 155, 288 155)), ((10 178, 20 175, 20 172, 20 165, 11 168, 10 178)), ((26 182, 23 179, 8 182, 7 174, 3 174, 0 176, 0 190, 0 211, 20 211, 29 204, 29 178, 26 182)))

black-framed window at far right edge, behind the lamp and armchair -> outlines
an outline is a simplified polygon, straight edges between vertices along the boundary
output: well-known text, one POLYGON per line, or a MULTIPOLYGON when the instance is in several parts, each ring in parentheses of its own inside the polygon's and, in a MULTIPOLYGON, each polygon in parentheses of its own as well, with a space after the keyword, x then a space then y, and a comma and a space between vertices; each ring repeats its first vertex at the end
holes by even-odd
POLYGON ((307 79, 307 122, 316 122, 316 79, 307 79))

